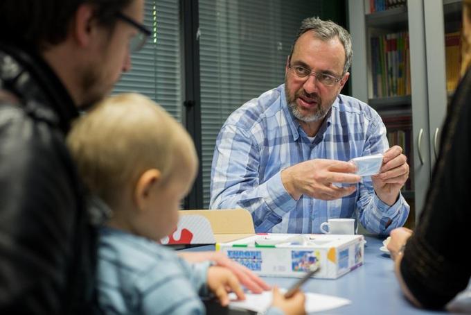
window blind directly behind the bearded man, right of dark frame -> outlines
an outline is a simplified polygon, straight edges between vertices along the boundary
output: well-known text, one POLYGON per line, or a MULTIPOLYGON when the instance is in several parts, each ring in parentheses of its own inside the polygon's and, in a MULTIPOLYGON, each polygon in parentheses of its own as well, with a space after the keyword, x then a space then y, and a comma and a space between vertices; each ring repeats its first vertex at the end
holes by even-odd
POLYGON ((321 1, 199 0, 204 207, 217 133, 243 103, 284 82, 292 41, 321 1))

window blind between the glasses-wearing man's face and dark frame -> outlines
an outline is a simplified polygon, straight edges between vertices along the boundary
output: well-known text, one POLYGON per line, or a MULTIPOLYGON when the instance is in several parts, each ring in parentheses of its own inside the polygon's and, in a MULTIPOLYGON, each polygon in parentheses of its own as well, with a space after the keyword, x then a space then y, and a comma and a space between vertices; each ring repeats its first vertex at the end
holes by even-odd
POLYGON ((132 54, 132 69, 113 93, 139 92, 181 121, 181 56, 179 0, 146 0, 144 24, 152 35, 132 54))

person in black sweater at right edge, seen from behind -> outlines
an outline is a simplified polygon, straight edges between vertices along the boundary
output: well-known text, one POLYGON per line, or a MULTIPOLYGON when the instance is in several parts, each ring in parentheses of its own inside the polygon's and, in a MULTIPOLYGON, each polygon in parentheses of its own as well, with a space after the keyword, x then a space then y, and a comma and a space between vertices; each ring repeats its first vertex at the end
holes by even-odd
POLYGON ((471 169, 471 0, 463 0, 463 78, 454 93, 425 207, 414 232, 391 231, 388 249, 405 296, 418 307, 441 309, 466 288, 471 169))

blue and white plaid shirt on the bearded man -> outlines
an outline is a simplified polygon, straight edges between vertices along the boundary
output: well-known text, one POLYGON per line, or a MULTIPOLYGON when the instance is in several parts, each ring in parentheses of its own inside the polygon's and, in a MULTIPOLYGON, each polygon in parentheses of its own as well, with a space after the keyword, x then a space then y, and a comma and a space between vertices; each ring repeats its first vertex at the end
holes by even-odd
POLYGON ((287 108, 285 86, 280 85, 242 105, 222 126, 211 169, 210 207, 249 210, 256 232, 319 233, 327 219, 355 218, 369 232, 386 235, 409 215, 402 195, 390 207, 365 177, 350 196, 335 201, 301 196, 296 201, 280 174, 306 160, 348 161, 388 148, 377 112, 341 94, 312 141, 287 108))

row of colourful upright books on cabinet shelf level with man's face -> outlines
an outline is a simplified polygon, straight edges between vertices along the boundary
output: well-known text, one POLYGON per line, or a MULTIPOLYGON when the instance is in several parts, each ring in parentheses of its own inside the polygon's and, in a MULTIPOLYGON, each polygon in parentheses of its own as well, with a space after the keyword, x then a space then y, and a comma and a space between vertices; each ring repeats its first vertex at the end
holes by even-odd
POLYGON ((391 33, 370 39, 373 97, 411 94, 409 33, 391 33))

